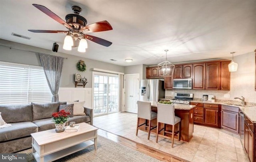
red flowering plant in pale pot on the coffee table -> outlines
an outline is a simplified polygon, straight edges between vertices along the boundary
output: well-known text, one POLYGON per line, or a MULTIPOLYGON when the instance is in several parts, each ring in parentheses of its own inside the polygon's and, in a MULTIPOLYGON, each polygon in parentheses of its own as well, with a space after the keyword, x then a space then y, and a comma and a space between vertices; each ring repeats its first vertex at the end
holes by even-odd
POLYGON ((70 115, 70 113, 65 112, 65 110, 52 113, 52 121, 55 124, 56 132, 63 132, 65 130, 66 121, 68 121, 69 118, 68 115, 70 115))

